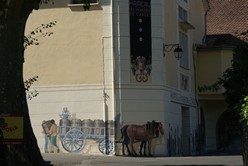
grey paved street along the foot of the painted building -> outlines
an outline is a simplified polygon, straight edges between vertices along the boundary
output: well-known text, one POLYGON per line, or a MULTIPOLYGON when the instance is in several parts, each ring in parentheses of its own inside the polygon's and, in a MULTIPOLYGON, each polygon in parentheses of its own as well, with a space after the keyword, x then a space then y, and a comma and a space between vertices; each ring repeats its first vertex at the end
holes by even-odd
POLYGON ((242 156, 123 157, 86 154, 42 154, 54 166, 241 166, 242 156))

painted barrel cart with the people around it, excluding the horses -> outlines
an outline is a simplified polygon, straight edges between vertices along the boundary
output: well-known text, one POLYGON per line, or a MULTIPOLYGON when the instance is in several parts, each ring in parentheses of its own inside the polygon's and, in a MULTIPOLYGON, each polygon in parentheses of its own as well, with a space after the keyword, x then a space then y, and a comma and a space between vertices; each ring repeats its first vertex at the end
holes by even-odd
POLYGON ((103 154, 114 153, 115 124, 113 120, 102 119, 78 119, 68 109, 63 108, 60 114, 59 124, 56 125, 56 133, 52 130, 52 121, 42 122, 45 137, 45 153, 59 152, 59 147, 52 137, 58 137, 65 152, 89 153, 90 145, 98 144, 98 150, 103 154), (88 145, 86 145, 86 142, 88 145), (55 149, 55 150, 54 150, 55 149))

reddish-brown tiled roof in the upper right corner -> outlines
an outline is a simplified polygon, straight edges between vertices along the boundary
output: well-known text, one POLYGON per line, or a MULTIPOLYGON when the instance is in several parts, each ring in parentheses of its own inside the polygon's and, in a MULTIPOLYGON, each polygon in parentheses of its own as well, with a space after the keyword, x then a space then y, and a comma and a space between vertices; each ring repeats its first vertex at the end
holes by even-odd
POLYGON ((248 0, 209 0, 207 34, 239 36, 248 30, 248 0))

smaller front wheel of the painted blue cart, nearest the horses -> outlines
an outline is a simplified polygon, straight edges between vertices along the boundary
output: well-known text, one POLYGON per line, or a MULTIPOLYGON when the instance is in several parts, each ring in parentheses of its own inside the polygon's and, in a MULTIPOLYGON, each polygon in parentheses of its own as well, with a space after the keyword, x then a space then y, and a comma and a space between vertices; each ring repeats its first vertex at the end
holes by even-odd
POLYGON ((112 140, 103 139, 100 141, 98 149, 102 154, 113 154, 115 150, 115 145, 112 140))

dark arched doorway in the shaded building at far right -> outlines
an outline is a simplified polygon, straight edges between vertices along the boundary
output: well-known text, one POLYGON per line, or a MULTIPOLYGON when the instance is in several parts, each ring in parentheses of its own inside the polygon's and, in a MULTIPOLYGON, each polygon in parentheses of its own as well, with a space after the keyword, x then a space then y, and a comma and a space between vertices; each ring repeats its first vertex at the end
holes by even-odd
POLYGON ((225 111, 217 122, 217 149, 227 153, 241 152, 241 124, 234 111, 225 111))

